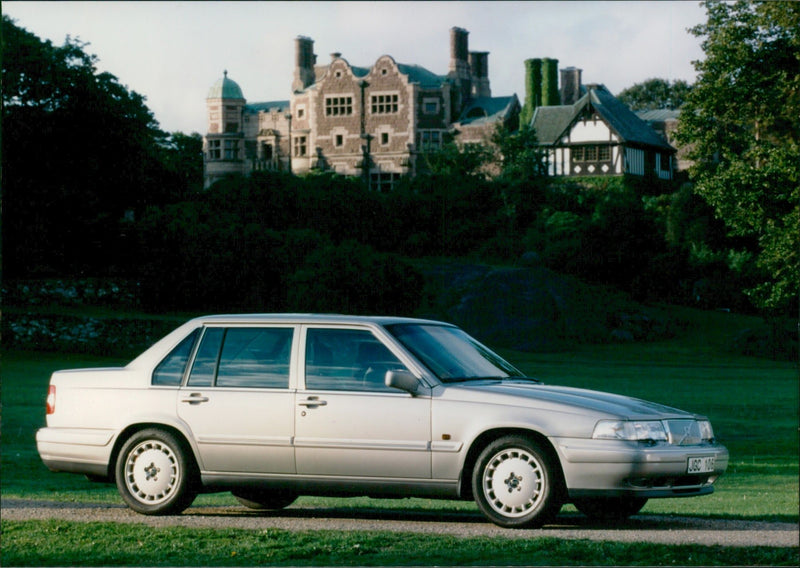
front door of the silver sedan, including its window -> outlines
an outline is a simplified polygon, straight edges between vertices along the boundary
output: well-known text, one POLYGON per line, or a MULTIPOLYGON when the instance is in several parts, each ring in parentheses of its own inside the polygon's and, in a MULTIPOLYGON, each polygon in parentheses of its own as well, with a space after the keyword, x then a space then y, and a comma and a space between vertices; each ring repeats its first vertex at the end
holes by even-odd
POLYGON ((304 339, 297 473, 429 479, 430 396, 384 384, 400 359, 368 329, 309 326, 304 339))

